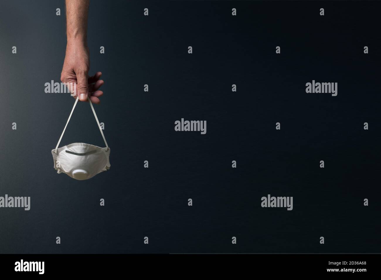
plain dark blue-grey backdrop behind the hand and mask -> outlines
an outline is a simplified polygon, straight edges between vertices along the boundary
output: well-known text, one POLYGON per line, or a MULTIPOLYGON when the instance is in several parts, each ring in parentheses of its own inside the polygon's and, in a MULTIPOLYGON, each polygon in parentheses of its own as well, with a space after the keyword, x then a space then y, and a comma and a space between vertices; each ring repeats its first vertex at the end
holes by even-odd
MULTIPOLYGON (((111 168, 77 181, 51 155, 74 99, 44 92, 60 82, 64 1, 2 1, 0 196, 31 208, 0 208, 0 253, 379 253, 380 4, 91 0, 111 168), (307 94, 312 80, 338 95, 307 94), (181 118, 207 134, 174 131, 181 118), (267 194, 293 210, 261 208, 267 194)), ((72 142, 104 146, 87 103, 72 142)))

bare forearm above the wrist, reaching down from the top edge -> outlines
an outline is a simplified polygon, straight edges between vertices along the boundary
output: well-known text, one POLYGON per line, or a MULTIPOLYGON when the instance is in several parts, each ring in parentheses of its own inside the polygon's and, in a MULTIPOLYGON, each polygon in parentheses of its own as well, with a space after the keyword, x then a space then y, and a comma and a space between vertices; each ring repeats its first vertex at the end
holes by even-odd
POLYGON ((67 43, 81 42, 87 46, 87 15, 89 0, 66 0, 67 43))

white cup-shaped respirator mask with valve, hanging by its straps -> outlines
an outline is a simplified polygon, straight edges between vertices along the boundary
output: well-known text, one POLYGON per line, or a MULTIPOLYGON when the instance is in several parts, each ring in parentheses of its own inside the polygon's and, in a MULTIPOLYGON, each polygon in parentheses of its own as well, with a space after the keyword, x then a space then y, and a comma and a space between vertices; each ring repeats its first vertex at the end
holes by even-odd
POLYGON ((110 168, 110 148, 107 145, 106 138, 104 138, 101 125, 95 114, 93 104, 90 98, 87 98, 90 103, 91 110, 93 110, 94 117, 98 123, 99 130, 101 131, 106 148, 93 146, 85 143, 72 143, 67 146, 58 148, 59 142, 61 142, 62 136, 64 136, 66 126, 73 114, 75 105, 77 105, 78 97, 75 100, 73 109, 66 122, 64 131, 62 131, 61 137, 58 140, 56 149, 51 150, 54 160, 54 169, 57 173, 66 173, 71 178, 77 180, 86 180, 94 177, 96 174, 102 171, 109 170, 110 168))

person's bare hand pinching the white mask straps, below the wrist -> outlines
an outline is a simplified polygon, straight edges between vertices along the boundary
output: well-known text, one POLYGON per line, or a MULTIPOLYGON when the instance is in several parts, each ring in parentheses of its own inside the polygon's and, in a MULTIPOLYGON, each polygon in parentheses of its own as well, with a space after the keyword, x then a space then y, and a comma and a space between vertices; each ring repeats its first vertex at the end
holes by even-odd
POLYGON ((98 90, 103 84, 102 73, 96 72, 89 77, 90 67, 89 50, 83 42, 67 42, 64 66, 61 72, 61 82, 76 83, 77 88, 73 97, 79 96, 80 101, 87 101, 89 96, 92 103, 99 104, 98 97, 103 95, 103 91, 98 90))

